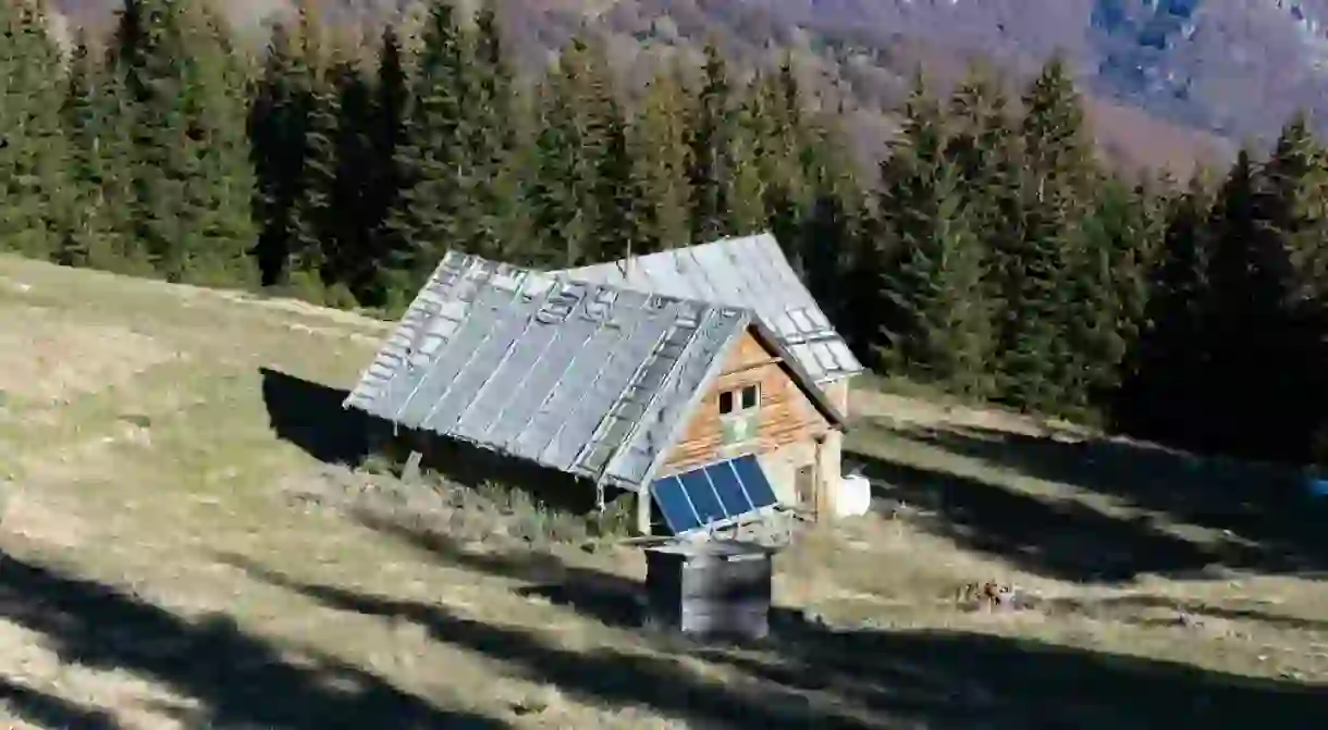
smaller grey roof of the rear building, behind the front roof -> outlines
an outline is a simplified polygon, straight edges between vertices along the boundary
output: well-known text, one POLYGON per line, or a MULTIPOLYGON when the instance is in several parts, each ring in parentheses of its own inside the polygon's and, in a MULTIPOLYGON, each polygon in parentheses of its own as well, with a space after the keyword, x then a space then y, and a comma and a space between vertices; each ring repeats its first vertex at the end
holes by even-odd
POLYGON ((770 234, 722 239, 556 273, 582 281, 752 309, 818 384, 863 369, 770 234))

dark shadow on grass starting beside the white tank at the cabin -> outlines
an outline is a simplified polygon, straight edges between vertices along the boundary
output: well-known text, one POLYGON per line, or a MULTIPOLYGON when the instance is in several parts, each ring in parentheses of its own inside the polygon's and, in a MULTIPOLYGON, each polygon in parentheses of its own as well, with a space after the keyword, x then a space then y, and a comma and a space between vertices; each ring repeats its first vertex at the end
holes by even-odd
POLYGON ((851 454, 878 494, 920 508, 915 524, 1029 572, 1077 583, 1139 573, 1195 573, 1239 555, 1236 544, 1198 544, 1072 500, 1041 499, 944 471, 851 454))

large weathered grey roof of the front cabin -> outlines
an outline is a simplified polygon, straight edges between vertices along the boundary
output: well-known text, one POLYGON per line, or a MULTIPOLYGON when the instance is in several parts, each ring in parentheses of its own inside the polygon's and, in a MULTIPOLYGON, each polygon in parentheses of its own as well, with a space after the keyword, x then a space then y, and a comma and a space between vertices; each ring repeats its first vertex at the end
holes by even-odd
POLYGON ((344 405, 639 490, 753 325, 742 308, 449 252, 344 405))

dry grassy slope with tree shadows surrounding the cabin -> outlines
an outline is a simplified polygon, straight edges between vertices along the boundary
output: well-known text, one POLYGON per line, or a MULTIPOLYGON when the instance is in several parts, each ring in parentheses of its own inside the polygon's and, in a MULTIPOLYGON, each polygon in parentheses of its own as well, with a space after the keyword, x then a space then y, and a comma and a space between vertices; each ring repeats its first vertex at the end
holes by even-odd
POLYGON ((624 622, 632 551, 537 551, 511 536, 530 532, 519 506, 404 492, 315 458, 356 441, 335 389, 382 332, 0 257, 0 718, 1313 727, 1328 715, 1323 685, 1305 685, 1328 678, 1328 587, 1291 575, 1323 557, 1313 535, 1216 507, 1181 519, 1106 480, 1145 465, 1175 482, 1190 471, 1174 457, 1125 445, 1066 457, 1046 439, 1001 441, 1027 430, 1017 419, 863 393, 851 443, 880 504, 903 506, 813 530, 778 559, 780 603, 838 628, 795 621, 769 645, 688 646, 624 622), (955 605, 960 583, 987 579, 1042 600, 955 605))

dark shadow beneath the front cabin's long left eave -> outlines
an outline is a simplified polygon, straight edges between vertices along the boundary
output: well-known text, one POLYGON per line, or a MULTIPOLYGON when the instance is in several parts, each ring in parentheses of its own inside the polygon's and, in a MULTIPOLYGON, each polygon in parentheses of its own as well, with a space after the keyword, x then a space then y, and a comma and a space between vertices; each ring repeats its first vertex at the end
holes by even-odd
POLYGON ((270 368, 259 372, 272 431, 320 462, 355 469, 381 457, 400 469, 412 451, 420 451, 420 467, 453 484, 518 488, 539 504, 575 515, 596 507, 594 486, 572 475, 437 434, 393 429, 381 418, 341 407, 347 390, 270 368))

